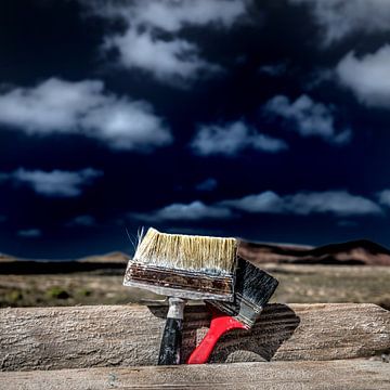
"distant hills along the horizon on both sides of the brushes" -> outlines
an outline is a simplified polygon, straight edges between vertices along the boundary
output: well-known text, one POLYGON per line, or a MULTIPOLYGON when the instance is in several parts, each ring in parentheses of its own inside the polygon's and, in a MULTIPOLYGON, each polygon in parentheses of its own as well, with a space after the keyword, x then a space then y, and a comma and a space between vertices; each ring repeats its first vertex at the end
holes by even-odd
MULTIPOLYGON (((321 247, 242 242, 238 255, 255 264, 390 265, 390 250, 367 239, 321 247)), ((129 256, 121 251, 77 260, 29 260, 0 253, 0 274, 63 274, 89 272, 122 275, 129 256)))

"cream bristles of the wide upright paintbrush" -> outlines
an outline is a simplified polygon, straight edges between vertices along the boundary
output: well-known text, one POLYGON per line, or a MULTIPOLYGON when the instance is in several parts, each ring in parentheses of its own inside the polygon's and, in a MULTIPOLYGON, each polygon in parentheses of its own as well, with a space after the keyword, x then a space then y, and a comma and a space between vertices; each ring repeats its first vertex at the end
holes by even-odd
POLYGON ((229 275, 234 272, 236 251, 235 238, 167 234, 151 227, 139 244, 133 262, 229 275))

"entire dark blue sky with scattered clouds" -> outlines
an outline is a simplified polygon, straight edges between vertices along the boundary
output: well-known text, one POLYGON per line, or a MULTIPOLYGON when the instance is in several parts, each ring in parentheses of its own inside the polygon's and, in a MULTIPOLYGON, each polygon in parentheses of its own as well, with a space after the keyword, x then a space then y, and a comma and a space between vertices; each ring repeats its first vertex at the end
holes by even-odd
POLYGON ((0 252, 390 246, 388 0, 2 0, 0 252))

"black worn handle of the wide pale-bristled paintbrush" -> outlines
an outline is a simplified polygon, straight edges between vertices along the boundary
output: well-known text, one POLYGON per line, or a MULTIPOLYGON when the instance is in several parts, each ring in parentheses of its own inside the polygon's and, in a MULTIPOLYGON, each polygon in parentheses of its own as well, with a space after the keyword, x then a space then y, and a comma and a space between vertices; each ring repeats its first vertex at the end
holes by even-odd
POLYGON ((185 299, 169 298, 169 310, 164 328, 158 365, 180 364, 185 299))

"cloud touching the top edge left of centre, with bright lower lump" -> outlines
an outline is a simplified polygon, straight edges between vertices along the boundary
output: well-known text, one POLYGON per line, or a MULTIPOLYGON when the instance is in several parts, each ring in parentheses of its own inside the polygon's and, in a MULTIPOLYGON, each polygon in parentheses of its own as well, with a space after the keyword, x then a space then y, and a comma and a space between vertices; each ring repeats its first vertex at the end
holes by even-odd
POLYGON ((221 67, 200 56, 200 49, 178 38, 185 26, 230 28, 246 12, 243 0, 82 1, 93 14, 120 20, 126 28, 105 37, 103 50, 115 49, 126 68, 140 68, 173 84, 214 74, 221 67), (164 37, 161 36, 164 34, 164 37))

